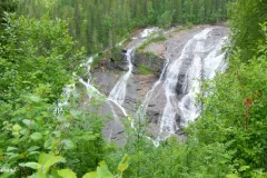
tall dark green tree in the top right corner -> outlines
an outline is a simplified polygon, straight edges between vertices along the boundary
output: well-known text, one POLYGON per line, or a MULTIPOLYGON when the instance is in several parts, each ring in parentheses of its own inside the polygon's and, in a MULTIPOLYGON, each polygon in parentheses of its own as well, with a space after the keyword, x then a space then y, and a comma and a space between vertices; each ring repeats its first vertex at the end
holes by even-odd
POLYGON ((243 62, 248 62, 257 53, 257 43, 264 39, 260 23, 267 21, 266 0, 236 0, 229 4, 233 52, 240 50, 243 62))

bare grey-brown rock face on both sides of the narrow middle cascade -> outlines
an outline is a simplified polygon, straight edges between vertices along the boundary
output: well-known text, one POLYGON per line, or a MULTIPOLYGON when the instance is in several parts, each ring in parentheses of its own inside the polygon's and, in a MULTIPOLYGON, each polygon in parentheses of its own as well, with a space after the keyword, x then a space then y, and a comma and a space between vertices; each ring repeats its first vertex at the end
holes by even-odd
MULTIPOLYGON (((126 58, 126 50, 120 52, 119 59, 106 59, 105 66, 98 67, 91 73, 95 86, 100 90, 101 93, 109 96, 110 91, 120 79, 123 72, 128 71, 128 61, 126 58)), ((125 102, 122 105, 129 115, 135 115, 137 107, 144 100, 146 93, 151 89, 152 85, 158 80, 158 76, 161 72, 164 59, 159 57, 149 57, 144 53, 136 52, 132 57, 134 71, 127 82, 127 92, 125 102), (151 69, 151 73, 140 75, 139 67, 146 66, 151 69), (155 73, 158 73, 155 75, 155 73)), ((123 113, 120 113, 120 109, 113 107, 117 115, 120 118, 125 118, 123 113)), ((106 118, 108 115, 112 116, 110 106, 105 103, 101 106, 101 115, 106 118)), ((158 113, 156 113, 158 115, 158 113)), ((155 130, 156 132, 156 130, 155 130)), ((113 119, 105 122, 102 135, 108 141, 113 141, 118 146, 123 146, 123 138, 126 136, 123 125, 120 120, 113 119)))

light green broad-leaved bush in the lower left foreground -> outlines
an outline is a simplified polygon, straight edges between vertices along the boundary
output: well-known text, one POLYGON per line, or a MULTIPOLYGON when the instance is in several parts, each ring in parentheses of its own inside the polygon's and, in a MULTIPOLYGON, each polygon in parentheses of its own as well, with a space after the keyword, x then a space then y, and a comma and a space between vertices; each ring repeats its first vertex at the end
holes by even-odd
MULTIPOLYGON (((101 121, 97 121, 99 117, 96 113, 72 106, 66 107, 65 112, 55 115, 56 107, 37 93, 23 98, 23 102, 20 101, 16 108, 17 111, 12 111, 12 119, 3 122, 1 145, 2 148, 8 148, 4 151, 2 166, 16 167, 19 162, 34 161, 41 151, 50 151, 67 159, 72 158, 66 165, 80 175, 87 170, 85 166, 92 169, 101 159, 105 142, 99 135, 101 121)), ((42 162, 42 156, 39 158, 39 164, 40 161, 42 162)), ((46 166, 47 170, 49 166, 46 166)), ((28 172, 27 169, 21 168, 18 174, 28 172)))

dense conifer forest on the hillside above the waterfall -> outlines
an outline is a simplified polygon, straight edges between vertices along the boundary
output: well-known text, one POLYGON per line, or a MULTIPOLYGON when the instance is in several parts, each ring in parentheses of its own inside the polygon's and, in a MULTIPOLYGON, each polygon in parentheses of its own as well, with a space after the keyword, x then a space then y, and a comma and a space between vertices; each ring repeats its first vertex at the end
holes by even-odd
MULTIPOLYGON (((6 0, 7 1, 7 0, 6 0)), ((18 0, 18 13, 66 19, 69 33, 89 53, 112 48, 132 29, 171 23, 217 22, 227 17, 229 0, 18 0), (49 10, 50 7, 50 10, 49 10), (96 40, 95 37, 98 39, 96 40), (111 38, 111 39, 110 39, 111 38), (92 42, 98 42, 98 44, 92 42), (112 41, 112 42, 110 42, 112 41), (96 48, 98 47, 98 48, 96 48), (101 49, 99 49, 101 50, 101 49)))

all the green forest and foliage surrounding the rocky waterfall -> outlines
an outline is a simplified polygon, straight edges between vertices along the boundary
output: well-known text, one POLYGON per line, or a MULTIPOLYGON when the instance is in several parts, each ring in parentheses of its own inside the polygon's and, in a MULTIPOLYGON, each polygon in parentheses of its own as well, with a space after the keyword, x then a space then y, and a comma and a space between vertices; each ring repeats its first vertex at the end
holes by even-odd
POLYGON ((267 177, 267 0, 1 0, 0 23, 0 177, 267 177), (88 56, 117 59, 137 29, 198 24, 229 28, 228 68, 202 81, 186 141, 155 147, 146 122, 125 121, 125 146, 109 142, 103 99, 88 110, 82 92, 57 111, 88 56))

